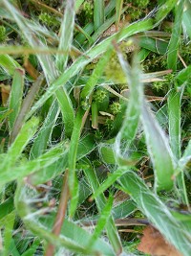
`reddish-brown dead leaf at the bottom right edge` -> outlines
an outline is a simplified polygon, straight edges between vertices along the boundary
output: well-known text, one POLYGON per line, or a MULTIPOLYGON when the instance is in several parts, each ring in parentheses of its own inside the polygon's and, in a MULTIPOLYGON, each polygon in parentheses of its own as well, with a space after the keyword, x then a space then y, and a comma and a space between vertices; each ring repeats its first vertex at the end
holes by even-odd
POLYGON ((138 250, 152 256, 182 256, 175 246, 169 244, 159 230, 151 225, 145 227, 138 250))

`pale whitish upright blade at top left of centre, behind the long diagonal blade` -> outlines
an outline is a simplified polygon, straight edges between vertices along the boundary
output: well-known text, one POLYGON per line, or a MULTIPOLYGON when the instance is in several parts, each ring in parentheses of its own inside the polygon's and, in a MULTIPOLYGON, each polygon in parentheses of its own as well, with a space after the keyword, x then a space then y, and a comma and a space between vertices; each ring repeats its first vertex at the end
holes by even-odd
POLYGON ((69 52, 72 46, 74 32, 74 0, 67 0, 64 11, 64 18, 60 28, 58 50, 64 50, 64 55, 56 55, 55 62, 58 70, 63 72, 66 69, 69 52))

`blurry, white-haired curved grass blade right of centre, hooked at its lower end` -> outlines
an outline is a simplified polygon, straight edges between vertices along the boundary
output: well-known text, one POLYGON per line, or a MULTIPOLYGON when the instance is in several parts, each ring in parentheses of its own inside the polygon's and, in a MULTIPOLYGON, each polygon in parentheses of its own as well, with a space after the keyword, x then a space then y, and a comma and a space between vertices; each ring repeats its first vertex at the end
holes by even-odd
POLYGON ((123 59, 121 53, 118 52, 117 55, 130 89, 130 98, 126 110, 126 115, 123 121, 122 128, 120 128, 117 133, 115 142, 116 156, 118 159, 117 161, 119 162, 120 159, 122 160, 129 157, 128 151, 130 145, 137 134, 140 108, 143 98, 143 85, 140 81, 141 73, 138 69, 138 56, 134 58, 132 69, 130 69, 127 62, 125 62, 125 60, 123 59), (121 142, 123 140, 125 140, 125 146, 124 150, 121 150, 121 142))

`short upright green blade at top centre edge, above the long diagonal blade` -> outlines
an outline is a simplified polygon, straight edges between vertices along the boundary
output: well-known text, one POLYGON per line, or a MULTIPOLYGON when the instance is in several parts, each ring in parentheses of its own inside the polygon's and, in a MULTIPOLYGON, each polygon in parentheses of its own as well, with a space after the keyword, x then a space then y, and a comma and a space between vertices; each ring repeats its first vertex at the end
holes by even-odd
POLYGON ((104 19, 105 19, 104 0, 94 0, 95 31, 104 23, 104 19))

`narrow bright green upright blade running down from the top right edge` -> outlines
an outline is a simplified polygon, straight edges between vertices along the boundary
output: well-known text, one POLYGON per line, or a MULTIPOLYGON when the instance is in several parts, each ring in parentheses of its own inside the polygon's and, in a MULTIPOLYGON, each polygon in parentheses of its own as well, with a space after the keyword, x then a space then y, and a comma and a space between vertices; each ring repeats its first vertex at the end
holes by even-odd
POLYGON ((173 31, 172 31, 172 35, 171 35, 169 46, 168 46, 167 65, 168 65, 168 68, 172 69, 173 71, 177 70, 183 5, 184 5, 184 0, 178 1, 176 5, 175 22, 173 25, 173 31))

